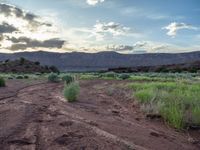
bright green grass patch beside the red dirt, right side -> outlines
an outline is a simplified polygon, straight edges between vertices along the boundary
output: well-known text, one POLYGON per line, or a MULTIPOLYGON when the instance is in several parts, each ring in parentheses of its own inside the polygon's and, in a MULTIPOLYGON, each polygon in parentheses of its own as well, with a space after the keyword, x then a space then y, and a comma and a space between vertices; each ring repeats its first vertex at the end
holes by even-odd
POLYGON ((177 129, 200 126, 199 83, 143 82, 129 86, 146 113, 160 114, 177 129))

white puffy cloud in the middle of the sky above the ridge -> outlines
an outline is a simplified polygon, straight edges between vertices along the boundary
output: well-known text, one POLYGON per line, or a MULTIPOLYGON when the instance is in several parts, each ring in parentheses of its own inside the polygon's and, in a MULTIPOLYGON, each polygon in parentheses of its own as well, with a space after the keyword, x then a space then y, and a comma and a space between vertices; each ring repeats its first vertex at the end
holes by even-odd
POLYGON ((93 35, 96 36, 97 40, 103 40, 105 36, 124 36, 129 34, 130 28, 125 27, 115 22, 100 22, 97 21, 92 30, 93 35))

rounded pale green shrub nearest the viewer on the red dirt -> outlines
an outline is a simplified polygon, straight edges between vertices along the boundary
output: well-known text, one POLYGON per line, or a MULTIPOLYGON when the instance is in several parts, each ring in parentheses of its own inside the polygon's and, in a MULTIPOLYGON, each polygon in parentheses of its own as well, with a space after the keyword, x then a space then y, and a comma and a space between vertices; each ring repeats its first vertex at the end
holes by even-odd
POLYGON ((68 85, 65 84, 63 94, 64 94, 65 99, 68 102, 76 101, 78 98, 79 92, 80 92, 80 86, 77 82, 72 82, 68 85))

